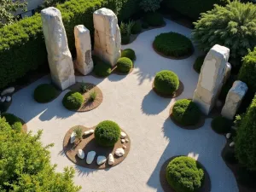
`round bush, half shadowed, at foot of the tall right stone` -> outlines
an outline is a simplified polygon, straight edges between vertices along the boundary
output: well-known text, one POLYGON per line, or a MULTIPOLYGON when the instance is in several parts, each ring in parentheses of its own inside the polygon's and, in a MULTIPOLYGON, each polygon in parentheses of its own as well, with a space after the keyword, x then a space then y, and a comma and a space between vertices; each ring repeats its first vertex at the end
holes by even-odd
POLYGON ((181 125, 196 125, 201 119, 201 110, 195 102, 181 99, 175 102, 172 117, 181 125))

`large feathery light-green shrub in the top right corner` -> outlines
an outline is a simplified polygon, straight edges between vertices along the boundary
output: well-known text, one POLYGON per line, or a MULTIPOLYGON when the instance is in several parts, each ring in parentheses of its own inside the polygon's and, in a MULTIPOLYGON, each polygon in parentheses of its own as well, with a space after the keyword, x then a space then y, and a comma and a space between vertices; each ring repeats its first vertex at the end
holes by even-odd
POLYGON ((255 28, 256 5, 234 1, 225 7, 216 5, 202 14, 195 22, 192 36, 203 51, 209 51, 215 44, 224 45, 230 48, 231 59, 240 61, 247 55, 247 49, 256 46, 255 28))

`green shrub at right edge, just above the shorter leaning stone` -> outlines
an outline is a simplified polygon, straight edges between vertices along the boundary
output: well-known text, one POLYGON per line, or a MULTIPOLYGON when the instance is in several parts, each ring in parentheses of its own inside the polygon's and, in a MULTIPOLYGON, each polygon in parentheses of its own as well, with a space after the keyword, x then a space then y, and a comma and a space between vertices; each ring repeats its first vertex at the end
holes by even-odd
POLYGON ((250 91, 256 92, 256 48, 242 59, 238 79, 246 83, 250 91))

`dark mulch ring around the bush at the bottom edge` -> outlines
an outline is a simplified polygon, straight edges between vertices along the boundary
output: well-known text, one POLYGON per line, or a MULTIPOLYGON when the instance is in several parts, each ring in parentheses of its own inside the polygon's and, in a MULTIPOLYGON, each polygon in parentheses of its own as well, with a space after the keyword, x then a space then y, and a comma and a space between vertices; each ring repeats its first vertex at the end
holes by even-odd
MULTIPOLYGON (((172 189, 171 185, 167 182, 166 179, 166 167, 168 166, 169 162, 171 160, 174 160, 177 157, 180 157, 183 155, 177 155, 177 156, 173 156, 172 158, 168 159, 165 161, 165 163, 161 166, 160 169, 160 183, 161 183, 161 187, 165 192, 176 192, 174 189, 172 189)), ((201 162, 199 162, 198 160, 196 160, 196 162, 199 164, 199 166, 201 166, 201 168, 204 171, 204 179, 203 179, 203 185, 201 186, 201 189, 199 189, 198 192, 210 192, 212 189, 212 184, 211 184, 211 179, 209 176, 209 173, 207 172, 206 167, 204 167, 201 162)))

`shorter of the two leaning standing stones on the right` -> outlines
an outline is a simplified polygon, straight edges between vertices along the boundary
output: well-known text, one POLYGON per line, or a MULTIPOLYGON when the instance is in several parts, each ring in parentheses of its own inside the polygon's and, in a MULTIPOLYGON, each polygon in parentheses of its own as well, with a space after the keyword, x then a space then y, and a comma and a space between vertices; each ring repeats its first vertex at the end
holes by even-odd
POLYGON ((226 97, 226 102, 224 108, 222 108, 221 115, 227 119, 233 119, 247 90, 247 84, 241 81, 235 81, 226 97))

